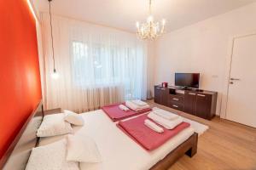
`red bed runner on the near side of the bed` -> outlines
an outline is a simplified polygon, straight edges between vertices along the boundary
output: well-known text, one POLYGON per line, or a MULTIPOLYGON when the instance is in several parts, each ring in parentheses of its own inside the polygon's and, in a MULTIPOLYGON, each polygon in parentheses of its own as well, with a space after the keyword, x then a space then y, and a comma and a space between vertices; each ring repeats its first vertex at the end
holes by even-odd
POLYGON ((182 122, 172 130, 163 127, 165 130, 164 133, 156 133, 154 130, 144 125, 144 120, 148 118, 147 115, 148 114, 137 116, 117 124, 124 133, 137 142, 137 144, 143 146, 146 150, 154 150, 160 147, 160 145, 164 144, 168 139, 172 139, 177 133, 190 126, 188 122, 182 122))

